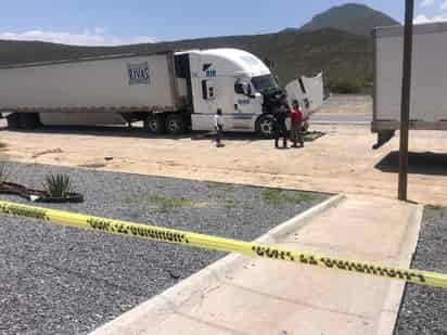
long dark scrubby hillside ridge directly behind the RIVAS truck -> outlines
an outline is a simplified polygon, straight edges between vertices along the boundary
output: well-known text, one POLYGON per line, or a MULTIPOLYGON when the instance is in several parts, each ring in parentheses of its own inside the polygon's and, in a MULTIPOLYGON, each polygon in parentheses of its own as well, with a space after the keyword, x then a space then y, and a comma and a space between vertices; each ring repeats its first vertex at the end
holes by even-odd
POLYGON ((324 70, 325 80, 360 80, 372 77, 370 39, 335 29, 229 36, 120 47, 75 47, 38 41, 0 40, 0 65, 69 60, 76 57, 161 52, 168 50, 239 48, 274 64, 281 85, 299 75, 324 70))

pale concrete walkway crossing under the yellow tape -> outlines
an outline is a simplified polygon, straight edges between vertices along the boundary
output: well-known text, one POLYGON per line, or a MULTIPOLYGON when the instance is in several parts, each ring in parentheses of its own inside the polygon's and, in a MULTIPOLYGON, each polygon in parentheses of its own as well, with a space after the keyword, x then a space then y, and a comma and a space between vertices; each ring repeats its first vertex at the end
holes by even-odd
MULTIPOLYGON (((349 196, 269 243, 408 267, 421 216, 421 206, 349 196)), ((94 335, 392 334, 403 288, 381 278, 230 255, 94 335)))

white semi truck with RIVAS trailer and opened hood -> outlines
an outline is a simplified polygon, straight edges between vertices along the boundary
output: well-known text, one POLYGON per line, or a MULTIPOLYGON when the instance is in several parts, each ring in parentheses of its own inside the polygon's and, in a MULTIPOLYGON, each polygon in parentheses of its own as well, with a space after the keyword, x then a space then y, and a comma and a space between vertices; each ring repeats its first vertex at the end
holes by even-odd
MULTIPOLYGON (((153 133, 226 130, 271 137, 282 91, 270 69, 238 49, 118 54, 0 67, 0 113, 11 129, 126 125, 153 133)), ((307 118, 323 103, 322 74, 286 86, 307 118)))

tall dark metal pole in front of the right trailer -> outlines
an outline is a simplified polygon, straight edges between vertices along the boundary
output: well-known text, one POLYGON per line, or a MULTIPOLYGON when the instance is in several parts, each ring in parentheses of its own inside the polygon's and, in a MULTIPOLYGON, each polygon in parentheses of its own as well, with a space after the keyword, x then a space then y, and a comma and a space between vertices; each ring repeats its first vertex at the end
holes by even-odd
POLYGON ((410 119, 411 53, 413 43, 414 0, 406 0, 404 31, 404 74, 400 109, 399 201, 407 201, 408 129, 410 119))

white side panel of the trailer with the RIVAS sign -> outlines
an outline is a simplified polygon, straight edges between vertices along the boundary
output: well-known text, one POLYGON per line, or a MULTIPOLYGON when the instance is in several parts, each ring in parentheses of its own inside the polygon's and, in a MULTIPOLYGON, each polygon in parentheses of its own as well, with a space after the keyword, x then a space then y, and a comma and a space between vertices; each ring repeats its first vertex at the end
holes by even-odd
POLYGON ((0 68, 0 111, 175 111, 171 54, 0 68))

